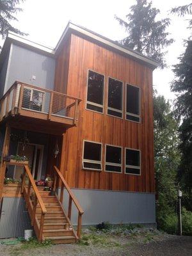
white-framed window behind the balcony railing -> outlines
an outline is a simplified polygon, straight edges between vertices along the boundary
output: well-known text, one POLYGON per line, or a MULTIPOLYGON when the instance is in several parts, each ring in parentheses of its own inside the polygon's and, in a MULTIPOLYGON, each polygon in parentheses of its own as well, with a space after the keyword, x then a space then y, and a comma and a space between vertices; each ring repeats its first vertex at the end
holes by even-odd
POLYGON ((45 93, 40 90, 24 88, 22 108, 43 111, 45 93))

